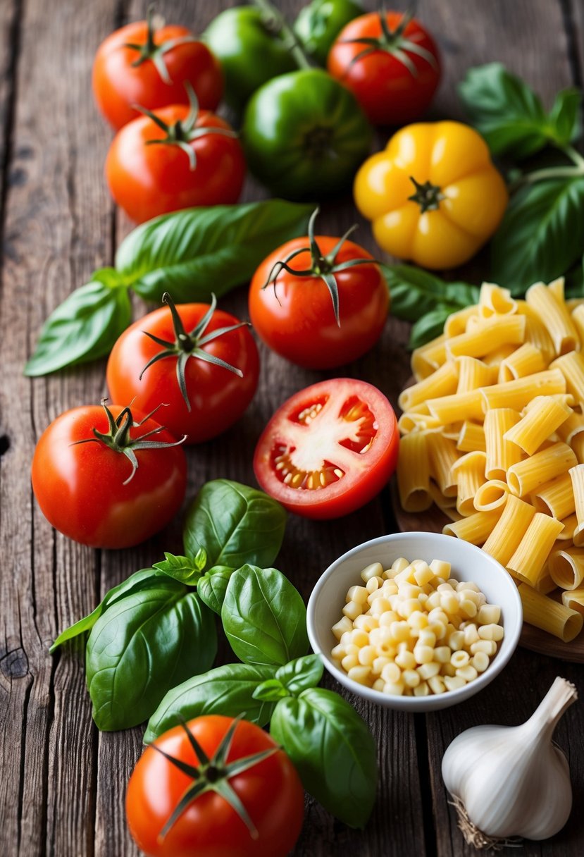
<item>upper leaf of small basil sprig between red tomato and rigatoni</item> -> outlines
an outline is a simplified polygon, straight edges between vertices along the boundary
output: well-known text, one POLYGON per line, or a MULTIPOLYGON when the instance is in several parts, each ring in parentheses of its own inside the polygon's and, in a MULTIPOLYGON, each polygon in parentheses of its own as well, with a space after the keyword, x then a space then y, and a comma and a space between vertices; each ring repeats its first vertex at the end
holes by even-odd
POLYGON ((479 301, 476 285, 447 283, 411 265, 381 265, 390 287, 391 312, 404 321, 419 321, 427 313, 448 309, 447 315, 479 301))

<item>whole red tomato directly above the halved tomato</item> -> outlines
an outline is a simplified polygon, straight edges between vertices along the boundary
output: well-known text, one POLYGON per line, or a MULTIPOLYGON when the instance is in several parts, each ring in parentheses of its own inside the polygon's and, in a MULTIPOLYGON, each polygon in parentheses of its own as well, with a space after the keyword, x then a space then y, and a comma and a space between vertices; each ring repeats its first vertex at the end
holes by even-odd
POLYGON ((331 369, 375 345, 384 328, 389 289, 372 255, 359 244, 346 236, 314 236, 315 214, 307 237, 274 250, 253 274, 249 316, 272 351, 307 369, 331 369))

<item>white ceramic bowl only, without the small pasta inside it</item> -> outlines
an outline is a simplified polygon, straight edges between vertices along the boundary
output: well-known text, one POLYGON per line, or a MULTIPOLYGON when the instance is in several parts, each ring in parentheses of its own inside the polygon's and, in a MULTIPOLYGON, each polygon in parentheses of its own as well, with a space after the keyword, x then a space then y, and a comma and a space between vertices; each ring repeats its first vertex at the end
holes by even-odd
POLYGON ((325 667, 349 691, 384 705, 404 711, 436 711, 449 708, 474 696, 498 675, 509 661, 519 641, 522 624, 521 598, 517 587, 504 567, 492 556, 473 544, 440 533, 410 532, 380 536, 357 545, 329 566, 319 578, 308 602, 308 637, 315 652, 319 652, 325 667), (408 560, 445 560, 452 566, 451 577, 474 581, 485 593, 487 602, 501 607, 505 629, 497 654, 484 673, 456 691, 446 691, 428 697, 400 697, 373 690, 349 679, 331 657, 337 639, 331 627, 343 616, 345 596, 349 586, 361 584, 361 571, 372 562, 384 568, 400 556, 408 560))

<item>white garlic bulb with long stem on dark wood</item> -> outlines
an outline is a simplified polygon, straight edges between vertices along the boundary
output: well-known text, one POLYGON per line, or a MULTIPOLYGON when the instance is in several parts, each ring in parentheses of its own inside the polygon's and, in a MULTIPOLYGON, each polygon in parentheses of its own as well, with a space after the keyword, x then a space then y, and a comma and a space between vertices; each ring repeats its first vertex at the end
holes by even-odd
POLYGON ((455 798, 459 827, 475 848, 500 839, 546 839, 572 808, 568 760, 551 741, 575 686, 557 678, 521 726, 476 726, 444 753, 442 777, 455 798))

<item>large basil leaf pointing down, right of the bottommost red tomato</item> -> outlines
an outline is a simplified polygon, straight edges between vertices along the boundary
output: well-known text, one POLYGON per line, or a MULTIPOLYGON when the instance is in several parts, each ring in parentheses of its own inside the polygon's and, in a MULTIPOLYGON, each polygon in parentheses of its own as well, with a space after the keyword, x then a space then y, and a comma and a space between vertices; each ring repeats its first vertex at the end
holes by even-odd
POLYGON ((377 750, 353 706, 313 687, 278 702, 270 733, 307 792, 349 827, 364 827, 375 802, 377 750))

